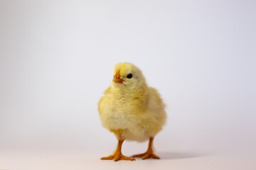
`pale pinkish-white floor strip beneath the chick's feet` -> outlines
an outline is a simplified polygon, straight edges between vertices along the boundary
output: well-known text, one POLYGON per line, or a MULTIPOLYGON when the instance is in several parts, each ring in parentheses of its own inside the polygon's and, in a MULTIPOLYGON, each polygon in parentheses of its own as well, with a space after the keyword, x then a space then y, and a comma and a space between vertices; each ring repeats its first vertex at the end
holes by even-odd
POLYGON ((162 158, 131 161, 102 161, 99 154, 86 152, 1 153, 4 169, 255 169, 255 154, 191 154, 161 152, 162 158))

